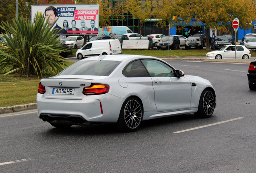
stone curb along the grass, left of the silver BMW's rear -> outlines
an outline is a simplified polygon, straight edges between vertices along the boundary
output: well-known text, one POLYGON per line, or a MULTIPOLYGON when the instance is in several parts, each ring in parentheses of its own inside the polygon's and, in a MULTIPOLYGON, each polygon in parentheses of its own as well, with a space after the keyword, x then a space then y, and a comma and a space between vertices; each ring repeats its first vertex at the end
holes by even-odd
POLYGON ((37 103, 29 103, 25 105, 15 105, 11 107, 0 107, 0 114, 14 113, 20 111, 27 111, 37 109, 37 103))

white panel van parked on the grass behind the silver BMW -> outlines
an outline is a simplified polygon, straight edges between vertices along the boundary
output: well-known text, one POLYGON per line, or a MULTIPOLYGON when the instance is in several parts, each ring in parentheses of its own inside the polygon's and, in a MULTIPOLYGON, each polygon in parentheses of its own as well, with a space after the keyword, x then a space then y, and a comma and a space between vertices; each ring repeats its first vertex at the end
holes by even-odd
POLYGON ((90 41, 81 49, 76 50, 76 58, 83 59, 87 56, 122 54, 119 40, 90 41))

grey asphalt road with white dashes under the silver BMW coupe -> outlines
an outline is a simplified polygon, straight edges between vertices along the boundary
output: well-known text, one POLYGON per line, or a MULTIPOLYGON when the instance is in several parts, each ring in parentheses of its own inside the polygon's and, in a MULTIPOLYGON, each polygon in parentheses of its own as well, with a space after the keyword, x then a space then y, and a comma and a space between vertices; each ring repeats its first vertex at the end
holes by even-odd
POLYGON ((256 91, 248 88, 248 64, 167 62, 213 83, 211 118, 167 117, 121 133, 108 123, 56 129, 35 110, 0 115, 0 173, 256 172, 256 91))

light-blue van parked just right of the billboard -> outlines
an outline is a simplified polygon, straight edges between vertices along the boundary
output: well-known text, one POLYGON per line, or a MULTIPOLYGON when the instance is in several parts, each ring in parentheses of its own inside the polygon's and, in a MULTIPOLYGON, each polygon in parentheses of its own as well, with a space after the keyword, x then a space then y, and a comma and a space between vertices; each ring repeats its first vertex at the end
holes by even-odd
POLYGON ((99 36, 101 36, 102 34, 124 35, 127 33, 133 33, 132 30, 130 30, 130 28, 128 28, 127 26, 108 26, 105 28, 99 27, 99 36))

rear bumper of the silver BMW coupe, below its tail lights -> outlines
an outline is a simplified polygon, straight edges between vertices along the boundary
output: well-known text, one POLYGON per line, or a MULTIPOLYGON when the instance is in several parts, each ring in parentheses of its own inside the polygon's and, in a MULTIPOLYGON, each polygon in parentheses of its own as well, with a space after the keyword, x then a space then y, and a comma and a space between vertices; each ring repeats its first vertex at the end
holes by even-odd
POLYGON ((82 100, 45 99, 38 93, 37 115, 41 119, 44 116, 50 116, 57 117, 55 120, 70 121, 72 117, 80 117, 88 122, 116 123, 123 102, 123 99, 109 93, 87 96, 82 100), (103 114, 101 114, 100 103, 103 114))

